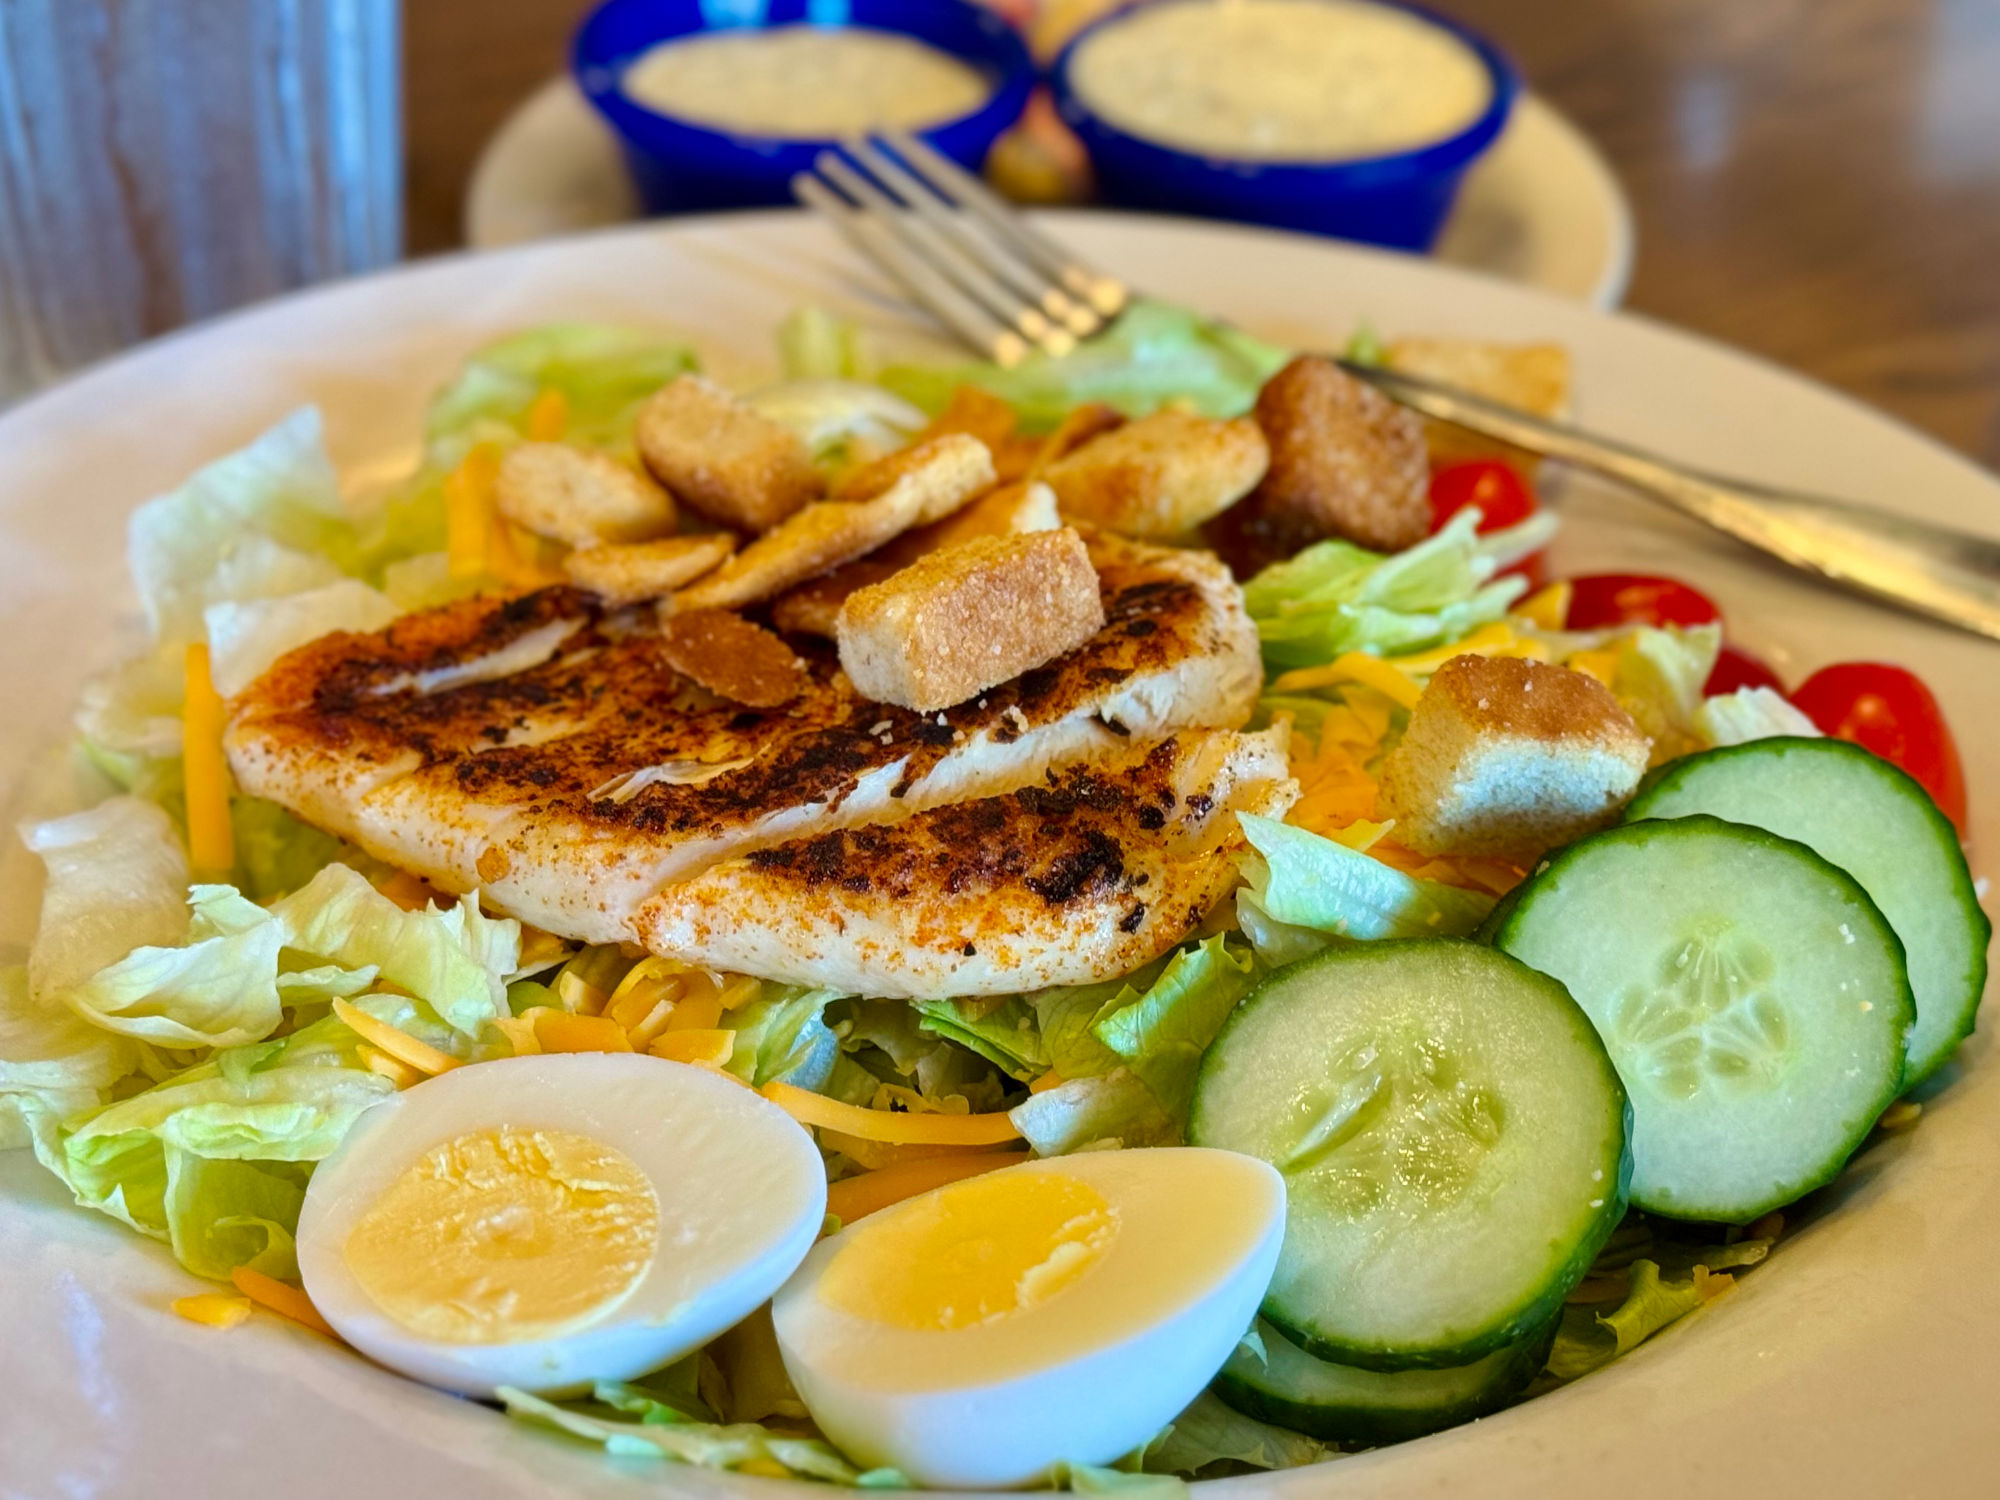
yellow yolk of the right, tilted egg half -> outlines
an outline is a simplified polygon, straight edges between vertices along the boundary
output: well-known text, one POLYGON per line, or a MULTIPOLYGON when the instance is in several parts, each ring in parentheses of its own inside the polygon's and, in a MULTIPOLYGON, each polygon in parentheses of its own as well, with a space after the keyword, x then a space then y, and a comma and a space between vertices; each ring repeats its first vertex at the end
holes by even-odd
POLYGON ((1074 1286, 1118 1236, 1118 1210, 1056 1172, 998 1172, 916 1198, 854 1230, 820 1296, 856 1318, 952 1332, 1074 1286))

